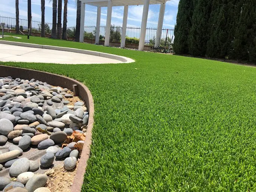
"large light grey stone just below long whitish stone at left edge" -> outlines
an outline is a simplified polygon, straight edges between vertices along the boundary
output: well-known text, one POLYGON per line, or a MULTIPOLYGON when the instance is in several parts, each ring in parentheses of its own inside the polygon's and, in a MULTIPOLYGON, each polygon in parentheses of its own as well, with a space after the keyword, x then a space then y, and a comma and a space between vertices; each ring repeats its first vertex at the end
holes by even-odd
POLYGON ((21 173, 27 172, 30 168, 30 162, 27 158, 20 158, 10 167, 10 175, 18 177, 21 173))

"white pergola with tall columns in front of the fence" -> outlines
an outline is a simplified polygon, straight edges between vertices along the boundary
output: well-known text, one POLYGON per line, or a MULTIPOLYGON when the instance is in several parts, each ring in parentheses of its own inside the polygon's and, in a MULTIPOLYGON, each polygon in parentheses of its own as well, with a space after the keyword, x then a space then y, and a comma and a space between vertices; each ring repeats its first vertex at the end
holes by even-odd
POLYGON ((163 27, 163 17, 165 15, 165 3, 169 0, 81 0, 81 23, 80 23, 80 42, 84 41, 84 17, 85 17, 85 4, 93 5, 98 7, 97 9, 97 24, 96 24, 96 36, 95 44, 99 44, 99 30, 101 23, 101 8, 107 7, 107 23, 105 31, 105 43, 104 46, 109 46, 110 41, 110 28, 111 28, 111 15, 113 6, 124 6, 123 11, 123 26, 122 26, 122 36, 121 36, 121 46, 125 47, 125 36, 126 36, 126 25, 128 18, 128 8, 129 5, 143 5, 143 14, 140 30, 140 41, 139 41, 139 50, 144 50, 145 36, 146 36, 146 26, 148 20, 148 10, 150 4, 160 4, 160 12, 157 25, 157 34, 155 38, 155 47, 159 46, 160 38, 162 34, 163 27))

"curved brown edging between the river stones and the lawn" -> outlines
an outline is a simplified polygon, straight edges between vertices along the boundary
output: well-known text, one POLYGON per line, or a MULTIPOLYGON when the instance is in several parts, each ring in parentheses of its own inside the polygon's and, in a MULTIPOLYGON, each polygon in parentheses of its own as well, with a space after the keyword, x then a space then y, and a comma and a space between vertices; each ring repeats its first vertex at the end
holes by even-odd
POLYGON ((91 145, 91 131, 93 128, 93 114, 94 114, 94 103, 93 96, 91 95, 90 90, 81 82, 76 81, 75 79, 71 79, 65 76, 56 75, 48 72, 41 72, 32 69, 24 69, 19 67, 10 67, 10 66, 2 66, 0 65, 0 76, 12 78, 22 78, 27 79, 29 76, 31 79, 37 79, 39 81, 47 82, 50 85, 61 86, 63 88, 68 88, 73 90, 73 85, 78 86, 78 96, 81 97, 83 101, 86 103, 86 107, 89 112, 89 120, 87 126, 86 137, 84 141, 84 147, 82 149, 81 157, 78 163, 77 172, 75 178, 73 180, 73 184, 71 187, 71 192, 80 192, 82 188, 82 184, 84 182, 84 174, 85 169, 87 167, 87 160, 90 157, 90 145, 91 145))

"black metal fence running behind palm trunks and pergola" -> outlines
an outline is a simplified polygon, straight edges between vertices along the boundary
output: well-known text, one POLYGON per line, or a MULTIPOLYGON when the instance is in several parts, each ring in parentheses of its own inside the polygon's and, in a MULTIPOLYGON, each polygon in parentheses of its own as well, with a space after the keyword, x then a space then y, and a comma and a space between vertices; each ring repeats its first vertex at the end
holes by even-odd
MULTIPOLYGON (((16 18, 14 17, 4 17, 0 16, 0 23, 5 23, 6 29, 16 29, 16 18)), ((19 19, 20 31, 26 32, 28 27, 27 19, 19 19)), ((40 36, 41 34, 41 22, 32 20, 31 23, 33 35, 40 36)), ((105 39, 106 26, 100 26, 100 40, 105 39)), ((75 39, 76 27, 67 27, 67 39, 75 39)), ((46 34, 52 34, 52 23, 45 23, 46 34)), ((157 29, 147 28, 145 44, 149 46, 154 46, 155 37, 157 29)), ((95 40, 96 26, 85 26, 84 27, 84 38, 95 40)), ((122 27, 121 26, 111 26, 110 30, 110 42, 121 42, 122 27)), ((140 39, 140 27, 126 27, 126 43, 139 44, 140 39)), ((170 46, 174 39, 174 29, 164 28, 162 29, 162 35, 160 39, 160 47, 170 46)))

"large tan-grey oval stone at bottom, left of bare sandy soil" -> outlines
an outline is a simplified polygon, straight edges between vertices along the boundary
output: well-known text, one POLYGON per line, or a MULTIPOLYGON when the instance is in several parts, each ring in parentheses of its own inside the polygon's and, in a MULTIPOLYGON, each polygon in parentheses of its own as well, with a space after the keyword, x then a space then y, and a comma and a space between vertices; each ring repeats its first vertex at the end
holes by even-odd
POLYGON ((34 192, 39 187, 43 187, 46 184, 47 180, 47 175, 36 174, 27 181, 25 188, 28 190, 28 192, 34 192))

